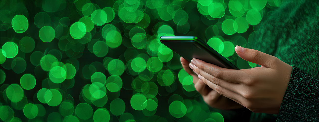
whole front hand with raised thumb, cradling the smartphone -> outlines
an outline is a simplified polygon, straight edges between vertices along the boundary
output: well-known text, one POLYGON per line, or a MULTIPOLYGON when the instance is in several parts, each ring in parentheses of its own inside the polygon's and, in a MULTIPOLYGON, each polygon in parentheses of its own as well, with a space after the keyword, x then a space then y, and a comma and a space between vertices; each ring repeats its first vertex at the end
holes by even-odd
POLYGON ((192 59, 190 67, 199 79, 217 93, 245 106, 252 112, 278 114, 292 67, 272 55, 236 46, 244 60, 261 65, 251 69, 227 69, 192 59))

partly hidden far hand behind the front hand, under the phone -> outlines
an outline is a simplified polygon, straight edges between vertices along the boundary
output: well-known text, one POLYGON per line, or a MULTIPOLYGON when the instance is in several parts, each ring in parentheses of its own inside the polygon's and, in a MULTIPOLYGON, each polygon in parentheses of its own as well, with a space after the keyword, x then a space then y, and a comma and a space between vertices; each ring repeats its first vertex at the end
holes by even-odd
POLYGON ((231 110, 244 107, 236 103, 235 101, 220 95, 216 91, 212 90, 209 86, 207 86, 202 80, 198 79, 196 72, 189 68, 189 62, 182 57, 181 63, 184 70, 189 75, 193 76, 193 83, 195 84, 196 90, 203 96, 204 101, 209 106, 223 110, 231 110))

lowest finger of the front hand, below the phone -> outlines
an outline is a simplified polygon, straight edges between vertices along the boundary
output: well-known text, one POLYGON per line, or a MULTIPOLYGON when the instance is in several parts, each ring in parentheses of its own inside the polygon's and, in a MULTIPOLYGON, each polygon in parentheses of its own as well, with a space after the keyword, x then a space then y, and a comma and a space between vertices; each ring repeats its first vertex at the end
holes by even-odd
MULTIPOLYGON (((200 76, 200 75, 198 75, 198 76, 200 76)), ((238 101, 242 100, 241 95, 239 95, 239 94, 237 94, 237 93, 235 93, 235 92, 233 92, 233 91, 230 91, 230 90, 228 90, 228 89, 225 89, 225 88, 223 88, 223 87, 220 87, 220 86, 218 86, 218 85, 216 85, 216 84, 213 84, 212 82, 208 81, 208 80, 205 79, 204 77, 202 77, 202 81, 203 81, 206 85, 208 85, 209 87, 211 87, 211 89, 213 89, 214 91, 216 91, 217 93, 219 93, 220 95, 223 95, 223 96, 225 96, 225 97, 228 97, 228 98, 234 99, 234 100, 238 100, 238 101)))

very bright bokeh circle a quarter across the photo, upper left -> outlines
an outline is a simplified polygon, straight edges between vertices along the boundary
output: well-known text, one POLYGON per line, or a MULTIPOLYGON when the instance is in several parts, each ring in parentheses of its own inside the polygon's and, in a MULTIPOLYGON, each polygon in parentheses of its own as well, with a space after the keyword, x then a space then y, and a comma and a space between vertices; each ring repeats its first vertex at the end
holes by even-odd
POLYGON ((86 33, 86 26, 83 22, 75 22, 70 27, 70 35, 74 39, 81 39, 86 33))

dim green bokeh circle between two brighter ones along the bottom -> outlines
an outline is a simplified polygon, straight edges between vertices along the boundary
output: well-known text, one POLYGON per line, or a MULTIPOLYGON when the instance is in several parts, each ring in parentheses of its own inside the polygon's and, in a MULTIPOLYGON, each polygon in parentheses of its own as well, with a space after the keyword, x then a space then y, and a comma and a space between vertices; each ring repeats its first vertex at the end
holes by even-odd
POLYGON ((125 111, 125 103, 122 99, 115 99, 110 104, 110 111, 115 116, 122 115, 125 111))

